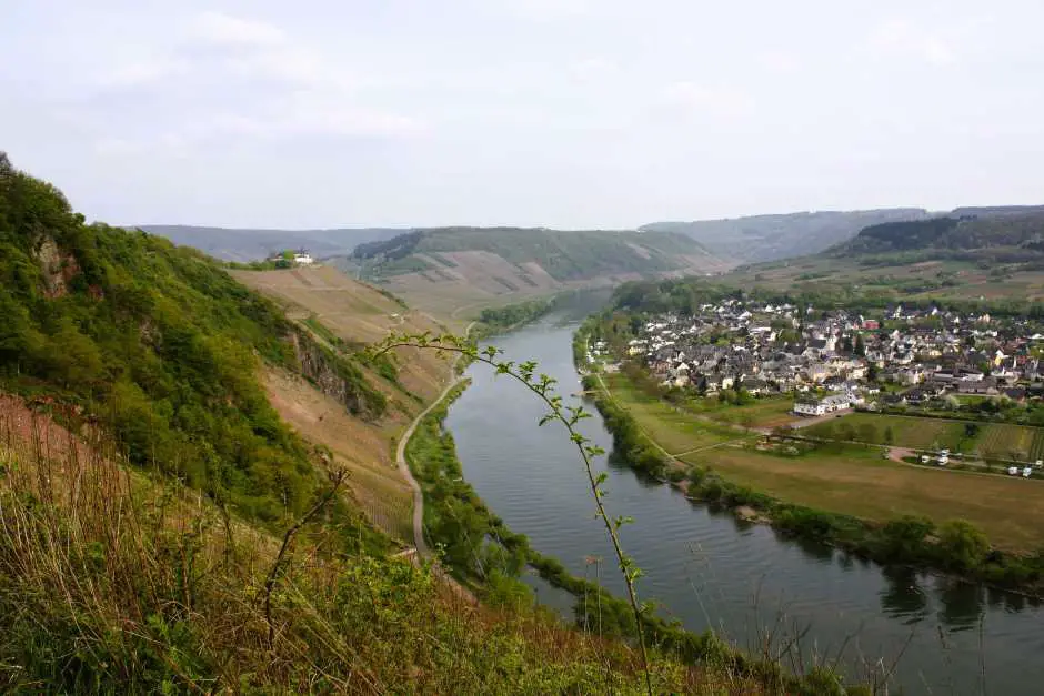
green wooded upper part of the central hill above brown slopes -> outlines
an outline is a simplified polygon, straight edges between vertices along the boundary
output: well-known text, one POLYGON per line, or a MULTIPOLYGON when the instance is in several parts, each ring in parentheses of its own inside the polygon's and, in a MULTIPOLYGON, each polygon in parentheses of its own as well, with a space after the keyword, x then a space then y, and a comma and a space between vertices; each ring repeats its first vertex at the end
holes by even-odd
POLYGON ((512 264, 536 263, 558 281, 606 273, 651 275, 720 262, 695 241, 669 232, 561 231, 521 228, 439 228, 415 230, 387 242, 362 244, 352 254, 374 275, 434 268, 416 254, 480 251, 512 264))

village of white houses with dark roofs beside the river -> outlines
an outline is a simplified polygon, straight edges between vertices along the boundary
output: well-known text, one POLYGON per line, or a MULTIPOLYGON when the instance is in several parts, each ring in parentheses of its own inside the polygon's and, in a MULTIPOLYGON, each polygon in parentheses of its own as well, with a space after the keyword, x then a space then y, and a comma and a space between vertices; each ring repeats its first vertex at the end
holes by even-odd
POLYGON ((948 394, 1024 400, 1040 387, 1044 335, 1028 320, 903 306, 871 312, 724 300, 648 320, 628 345, 664 386, 795 392, 795 413, 948 394), (882 393, 881 384, 899 385, 882 393), (1036 384, 1034 384, 1036 383, 1036 384))

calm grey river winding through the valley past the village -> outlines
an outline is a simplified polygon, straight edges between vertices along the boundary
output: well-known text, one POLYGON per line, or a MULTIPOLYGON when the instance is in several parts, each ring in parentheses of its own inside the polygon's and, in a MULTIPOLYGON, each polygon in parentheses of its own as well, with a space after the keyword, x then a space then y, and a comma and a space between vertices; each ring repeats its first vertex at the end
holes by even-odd
MULTIPOLYGON (((571 349, 576 324, 563 322, 549 317, 492 342, 509 360, 536 360, 563 395, 579 392, 571 349)), ((539 428, 544 408, 508 377, 494 377, 481 364, 468 374, 472 384, 446 420, 466 480, 534 548, 576 575, 600 577, 622 596, 612 549, 564 431, 558 424, 539 428)), ((596 413, 584 425, 611 451, 596 413)), ((800 649, 791 649, 784 664, 795 670, 801 654, 806 664, 813 657, 840 660, 853 678, 892 673, 892 693, 1044 694, 1040 603, 780 538, 769 526, 709 510, 612 460, 602 457, 599 467, 609 473, 610 514, 635 520, 623 528, 622 542, 646 573, 639 592, 686 628, 714 628, 756 654, 766 636, 777 648, 792 643, 800 649)), ((538 595, 569 606, 546 585, 538 595)))

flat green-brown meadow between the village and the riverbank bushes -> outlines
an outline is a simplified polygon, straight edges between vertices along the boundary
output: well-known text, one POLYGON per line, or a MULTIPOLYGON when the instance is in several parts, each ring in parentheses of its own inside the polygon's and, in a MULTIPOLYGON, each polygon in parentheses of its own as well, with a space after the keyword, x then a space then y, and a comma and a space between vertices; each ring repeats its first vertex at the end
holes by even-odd
MULTIPOLYGON (((609 384, 649 435, 666 450, 683 453, 679 458, 709 465, 730 481, 780 500, 882 522, 904 514, 925 515, 936 522, 964 518, 980 526, 1001 548, 1032 552, 1044 546, 1044 482, 902 464, 882 460, 876 448, 859 445, 789 457, 722 444, 727 431, 722 433, 721 426, 652 403, 628 389, 622 375, 613 375, 609 384), (706 448, 715 441, 720 446, 706 448)), ((963 433, 963 423, 866 417, 889 417, 887 422, 895 423, 896 442, 902 437, 906 442, 928 440, 931 444, 932 438, 942 436, 953 444, 963 433), (934 434, 920 433, 926 423, 937 424, 934 434)))

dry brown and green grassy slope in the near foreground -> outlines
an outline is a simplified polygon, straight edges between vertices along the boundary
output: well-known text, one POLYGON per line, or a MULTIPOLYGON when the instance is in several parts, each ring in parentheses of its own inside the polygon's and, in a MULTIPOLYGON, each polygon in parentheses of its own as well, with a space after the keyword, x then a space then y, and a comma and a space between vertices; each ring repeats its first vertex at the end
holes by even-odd
MULTIPOLYGON (((343 553, 330 510, 277 565, 279 536, 131 474, 103 441, 60 450, 73 434, 0 425, 4 693, 644 693, 624 643, 343 553)), ((652 679, 656 693, 770 692, 667 654, 652 679)))

